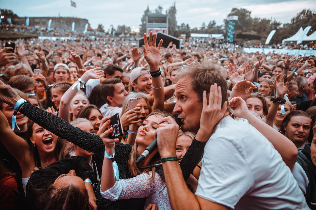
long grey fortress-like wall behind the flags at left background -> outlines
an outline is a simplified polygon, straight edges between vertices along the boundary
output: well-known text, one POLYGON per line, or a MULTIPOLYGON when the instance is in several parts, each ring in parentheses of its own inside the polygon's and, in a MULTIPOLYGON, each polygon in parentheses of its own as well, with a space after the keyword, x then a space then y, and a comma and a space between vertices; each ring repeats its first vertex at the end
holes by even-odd
MULTIPOLYGON (((27 17, 12 18, 12 23, 17 25, 25 25, 27 17)), ((82 32, 88 23, 87 19, 81 18, 57 18, 57 17, 30 17, 29 26, 48 26, 49 19, 52 19, 51 28, 71 31, 71 24, 75 22, 75 31, 82 32)))

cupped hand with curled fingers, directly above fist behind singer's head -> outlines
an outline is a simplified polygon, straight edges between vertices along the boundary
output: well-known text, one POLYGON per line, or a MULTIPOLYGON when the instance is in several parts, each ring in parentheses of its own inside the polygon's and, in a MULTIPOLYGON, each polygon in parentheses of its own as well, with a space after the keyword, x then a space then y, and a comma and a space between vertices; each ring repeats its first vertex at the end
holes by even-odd
POLYGON ((240 96, 242 99, 246 100, 248 96, 252 93, 253 88, 257 88, 252 82, 247 80, 238 81, 230 93, 229 99, 240 96))

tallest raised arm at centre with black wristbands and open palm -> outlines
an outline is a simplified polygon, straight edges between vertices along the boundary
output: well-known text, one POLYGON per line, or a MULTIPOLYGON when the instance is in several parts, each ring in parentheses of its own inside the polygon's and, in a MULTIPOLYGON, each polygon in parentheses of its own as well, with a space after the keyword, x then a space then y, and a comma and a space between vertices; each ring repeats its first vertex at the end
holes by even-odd
POLYGON ((147 35, 144 34, 144 57, 149 64, 149 71, 151 73, 151 81, 153 87, 153 96, 154 103, 152 106, 152 110, 159 109, 161 111, 164 110, 164 101, 165 101, 165 93, 163 88, 163 82, 161 79, 161 72, 159 71, 159 63, 160 63, 160 48, 162 45, 162 40, 160 40, 157 48, 156 48, 156 39, 157 34, 154 34, 150 31, 149 33, 149 42, 147 42, 147 35), (160 74, 160 75, 159 75, 160 74))

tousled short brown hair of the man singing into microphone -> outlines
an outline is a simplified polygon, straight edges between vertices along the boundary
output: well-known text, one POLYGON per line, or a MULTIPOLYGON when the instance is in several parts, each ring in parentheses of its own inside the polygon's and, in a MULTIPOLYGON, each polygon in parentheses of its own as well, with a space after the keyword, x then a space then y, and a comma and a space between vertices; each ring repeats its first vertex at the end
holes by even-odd
MULTIPOLYGON (((210 87, 214 83, 222 89, 222 105, 228 101, 226 71, 222 66, 209 62, 193 64, 179 71, 176 81, 184 77, 191 77, 191 87, 197 93, 199 101, 203 100, 203 91, 210 93, 210 87)), ((228 104, 227 109, 229 110, 228 104)))

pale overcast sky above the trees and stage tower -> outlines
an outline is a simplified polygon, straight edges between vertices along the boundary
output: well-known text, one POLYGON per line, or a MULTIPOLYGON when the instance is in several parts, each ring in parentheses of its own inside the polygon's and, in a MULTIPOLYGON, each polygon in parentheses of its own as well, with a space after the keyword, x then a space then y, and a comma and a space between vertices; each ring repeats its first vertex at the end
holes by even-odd
MULTIPOLYGON (((70 6, 70 0, 0 0, 1 9, 11 9, 20 17, 79 17, 86 18, 93 28, 99 23, 107 30, 111 24, 133 26, 139 28, 144 10, 149 5, 154 10, 161 5, 163 13, 173 4, 170 0, 145 1, 145 0, 73 0, 76 8, 70 6)), ((189 24, 191 28, 200 27, 203 22, 207 25, 210 20, 215 20, 217 25, 234 7, 246 8, 251 11, 252 17, 275 18, 282 23, 290 22, 302 9, 316 10, 315 0, 286 1, 286 0, 181 0, 176 1, 177 24, 189 24)))

